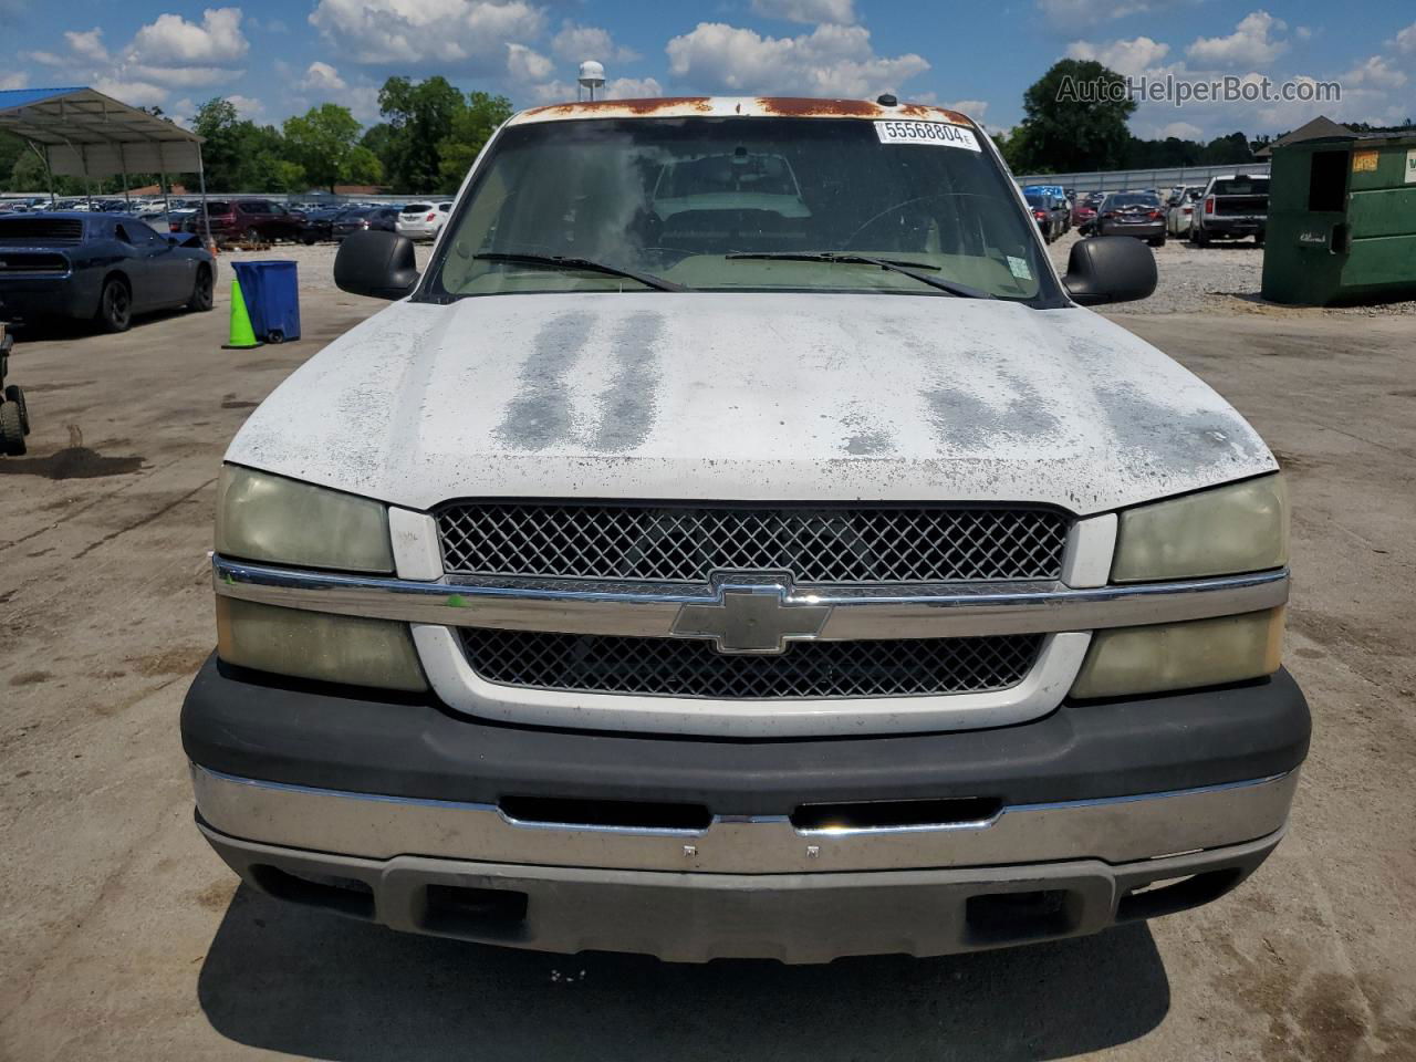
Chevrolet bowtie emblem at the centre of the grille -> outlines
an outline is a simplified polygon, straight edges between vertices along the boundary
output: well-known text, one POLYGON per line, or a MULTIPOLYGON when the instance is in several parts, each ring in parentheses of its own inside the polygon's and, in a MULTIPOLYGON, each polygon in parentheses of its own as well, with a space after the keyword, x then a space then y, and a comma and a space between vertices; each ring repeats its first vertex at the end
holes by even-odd
POLYGON ((714 589, 718 600, 678 609, 674 637, 712 639, 719 653, 782 653, 818 637, 831 615, 830 605, 792 600, 787 576, 721 576, 714 589))

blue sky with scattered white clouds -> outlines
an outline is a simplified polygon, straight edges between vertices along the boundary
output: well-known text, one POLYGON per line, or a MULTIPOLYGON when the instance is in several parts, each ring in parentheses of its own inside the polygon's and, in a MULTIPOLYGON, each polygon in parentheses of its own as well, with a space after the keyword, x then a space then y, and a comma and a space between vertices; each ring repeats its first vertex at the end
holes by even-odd
POLYGON ((262 123, 326 101, 371 123, 392 74, 534 106, 573 99, 576 64, 599 59, 612 96, 888 91, 1007 130, 1065 57, 1134 76, 1342 86, 1325 103, 1144 102, 1140 137, 1416 115, 1412 0, 0 0, 0 88, 91 85, 178 120, 225 96, 262 123))

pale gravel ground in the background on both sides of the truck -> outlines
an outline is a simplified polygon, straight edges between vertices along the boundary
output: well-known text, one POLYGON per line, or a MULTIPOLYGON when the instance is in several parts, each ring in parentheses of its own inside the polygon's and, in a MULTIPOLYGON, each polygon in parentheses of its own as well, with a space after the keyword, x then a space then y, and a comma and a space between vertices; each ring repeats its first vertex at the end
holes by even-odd
MULTIPOLYGON (((1066 272, 1066 259, 1076 241, 1078 235, 1072 231, 1049 248, 1059 273, 1066 272)), ((418 266, 422 269, 428 263, 432 244, 418 244, 416 248, 418 266)), ((299 263, 302 287, 333 289, 337 249, 337 244, 314 246, 279 244, 270 251, 227 251, 221 258, 225 262, 293 259, 299 263)), ((1264 302, 1259 296, 1263 249, 1250 241, 1197 248, 1187 241, 1171 239, 1165 246, 1155 248, 1155 262, 1160 266, 1160 286, 1155 295, 1143 302, 1117 306, 1116 313, 1257 313, 1277 317, 1416 314, 1416 300, 1340 309, 1279 306, 1264 302)))

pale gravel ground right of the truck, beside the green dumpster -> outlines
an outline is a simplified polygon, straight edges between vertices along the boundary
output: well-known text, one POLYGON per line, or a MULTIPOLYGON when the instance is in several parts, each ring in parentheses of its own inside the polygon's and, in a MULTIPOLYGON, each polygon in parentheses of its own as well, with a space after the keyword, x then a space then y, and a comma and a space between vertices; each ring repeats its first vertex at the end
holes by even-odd
MULTIPOLYGON (((1066 272, 1066 259, 1079 236, 1068 232, 1051 248, 1058 273, 1066 272)), ((1171 238, 1155 248, 1160 285, 1155 295, 1138 303, 1117 306, 1116 313, 1259 313, 1274 317, 1386 317, 1416 313, 1416 300, 1376 306, 1280 306, 1259 295, 1263 275, 1263 248, 1245 239, 1236 244, 1192 246, 1187 239, 1171 238)))

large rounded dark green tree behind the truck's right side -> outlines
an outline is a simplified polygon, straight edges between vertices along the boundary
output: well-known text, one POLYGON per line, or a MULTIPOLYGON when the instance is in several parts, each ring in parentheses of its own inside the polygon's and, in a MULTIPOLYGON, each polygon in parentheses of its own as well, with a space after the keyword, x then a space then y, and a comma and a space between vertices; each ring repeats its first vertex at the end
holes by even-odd
POLYGON ((1114 170, 1126 156, 1136 101, 1100 62, 1062 59, 1022 96, 1015 169, 1022 173, 1114 170))

